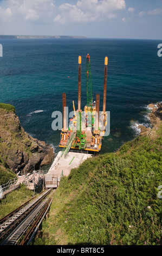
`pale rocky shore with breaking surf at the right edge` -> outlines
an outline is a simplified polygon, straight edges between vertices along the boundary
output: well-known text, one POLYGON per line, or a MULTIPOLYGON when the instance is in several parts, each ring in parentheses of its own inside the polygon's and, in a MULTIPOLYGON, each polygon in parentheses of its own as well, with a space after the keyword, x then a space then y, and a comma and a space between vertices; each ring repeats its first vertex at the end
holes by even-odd
MULTIPOLYGON (((150 118, 151 127, 158 127, 160 125, 160 121, 162 120, 162 103, 149 104, 148 108, 151 109, 151 113, 148 114, 150 118)), ((149 134, 151 132, 151 128, 146 128, 144 125, 139 125, 140 135, 149 134)))

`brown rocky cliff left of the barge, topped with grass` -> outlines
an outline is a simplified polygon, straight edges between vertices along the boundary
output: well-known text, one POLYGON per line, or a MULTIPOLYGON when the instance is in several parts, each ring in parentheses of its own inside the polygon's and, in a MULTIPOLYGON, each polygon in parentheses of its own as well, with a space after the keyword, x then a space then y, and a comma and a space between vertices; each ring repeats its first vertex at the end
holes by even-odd
POLYGON ((31 172, 54 159, 50 145, 28 135, 16 113, 0 105, 0 155, 14 172, 31 172))

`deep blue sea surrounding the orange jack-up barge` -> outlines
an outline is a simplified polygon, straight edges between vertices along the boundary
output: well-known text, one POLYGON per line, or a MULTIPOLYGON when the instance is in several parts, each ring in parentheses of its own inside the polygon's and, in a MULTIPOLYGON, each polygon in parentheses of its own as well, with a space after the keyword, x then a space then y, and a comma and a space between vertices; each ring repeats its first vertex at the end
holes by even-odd
POLYGON ((60 131, 53 131, 54 111, 62 112, 66 93, 69 112, 77 109, 78 56, 82 57, 81 108, 86 105, 86 56, 90 55, 92 91, 103 100, 104 59, 108 57, 106 111, 110 134, 100 154, 113 152, 150 126, 149 103, 161 102, 162 57, 159 40, 3 39, 0 58, 0 102, 16 108, 29 135, 59 151, 60 131))

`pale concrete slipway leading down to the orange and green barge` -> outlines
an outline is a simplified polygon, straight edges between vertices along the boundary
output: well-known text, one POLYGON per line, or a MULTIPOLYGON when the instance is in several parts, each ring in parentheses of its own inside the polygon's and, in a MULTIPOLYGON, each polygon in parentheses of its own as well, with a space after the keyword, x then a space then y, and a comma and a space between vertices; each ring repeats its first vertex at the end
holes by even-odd
POLYGON ((57 187, 62 175, 68 176, 71 169, 79 167, 89 157, 92 157, 92 155, 75 152, 69 152, 64 157, 62 151, 59 151, 48 173, 45 175, 46 188, 57 187))

